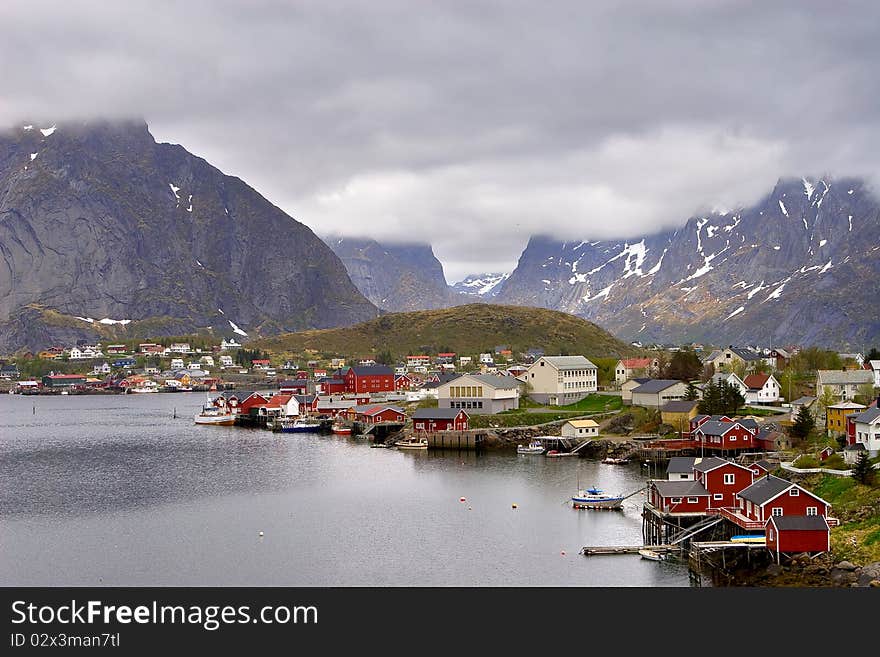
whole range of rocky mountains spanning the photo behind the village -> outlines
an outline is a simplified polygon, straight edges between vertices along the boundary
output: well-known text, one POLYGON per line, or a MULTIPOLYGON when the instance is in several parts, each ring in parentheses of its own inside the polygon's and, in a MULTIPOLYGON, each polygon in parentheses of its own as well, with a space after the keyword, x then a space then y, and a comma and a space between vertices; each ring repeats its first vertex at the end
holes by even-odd
MULTIPOLYGON (((369 230, 369 227, 366 227, 369 230)), ((271 336, 497 303, 630 342, 880 342, 880 201, 780 179, 757 203, 621 240, 533 236, 513 272, 449 285, 428 244, 327 236, 144 121, 0 131, 0 353, 76 339, 271 336)))

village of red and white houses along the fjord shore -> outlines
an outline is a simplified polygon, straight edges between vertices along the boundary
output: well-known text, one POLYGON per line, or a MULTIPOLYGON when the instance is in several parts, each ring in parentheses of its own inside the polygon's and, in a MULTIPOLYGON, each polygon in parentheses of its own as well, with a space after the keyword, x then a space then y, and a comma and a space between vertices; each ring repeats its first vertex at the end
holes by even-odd
POLYGON ((632 549, 708 563, 726 563, 728 550, 760 550, 780 563, 829 552, 840 525, 831 503, 794 479, 822 472, 870 483, 880 453, 876 351, 828 352, 836 367, 798 378, 799 355, 731 345, 703 356, 686 347, 595 359, 600 365, 499 345, 385 364, 317 353, 280 362, 224 339, 52 347, 32 357, 59 371, 27 378, 7 360, 0 379, 21 395, 205 392, 203 412, 230 418, 225 424, 286 432, 305 423, 377 447, 653 464, 644 545, 632 549))

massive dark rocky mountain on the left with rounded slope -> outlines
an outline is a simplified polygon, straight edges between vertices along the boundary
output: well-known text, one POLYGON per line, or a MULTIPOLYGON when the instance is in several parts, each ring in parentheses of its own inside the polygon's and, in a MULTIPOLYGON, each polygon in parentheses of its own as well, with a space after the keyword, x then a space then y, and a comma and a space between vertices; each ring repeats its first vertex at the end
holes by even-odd
POLYGON ((377 312, 309 228, 142 121, 0 133, 0 352, 377 312))

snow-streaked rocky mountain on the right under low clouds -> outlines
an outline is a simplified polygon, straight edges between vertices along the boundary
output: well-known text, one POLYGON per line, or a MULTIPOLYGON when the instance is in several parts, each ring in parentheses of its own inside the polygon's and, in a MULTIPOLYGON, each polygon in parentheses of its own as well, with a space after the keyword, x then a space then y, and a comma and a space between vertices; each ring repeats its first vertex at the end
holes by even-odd
MULTIPOLYGON (((589 224, 584 234, 590 233, 589 224)), ((533 238, 496 301, 627 340, 880 342, 880 201, 856 179, 780 180, 754 207, 628 241, 533 238)))

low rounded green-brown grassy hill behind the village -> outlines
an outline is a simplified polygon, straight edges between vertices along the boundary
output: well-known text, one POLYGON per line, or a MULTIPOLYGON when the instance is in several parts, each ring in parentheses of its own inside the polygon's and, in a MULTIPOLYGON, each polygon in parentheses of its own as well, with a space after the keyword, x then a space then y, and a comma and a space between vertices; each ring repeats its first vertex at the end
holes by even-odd
POLYGON ((529 348, 547 355, 630 356, 637 350, 574 315, 525 306, 469 304, 441 310, 393 313, 346 328, 286 333, 248 344, 273 355, 314 350, 349 358, 388 351, 407 354, 454 351, 470 355, 506 345, 516 355, 529 348))

